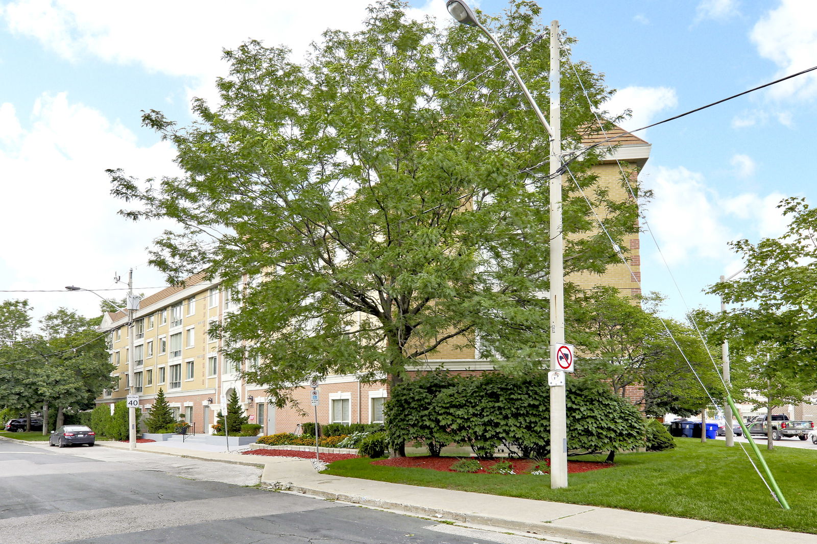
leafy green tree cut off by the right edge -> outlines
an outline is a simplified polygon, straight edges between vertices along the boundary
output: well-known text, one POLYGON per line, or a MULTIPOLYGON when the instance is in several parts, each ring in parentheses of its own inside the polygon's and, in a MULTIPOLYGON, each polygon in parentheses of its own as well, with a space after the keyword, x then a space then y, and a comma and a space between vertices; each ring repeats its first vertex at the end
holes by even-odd
MULTIPOLYGON (((796 379, 817 390, 817 209, 805 198, 778 206, 789 219, 778 238, 730 245, 746 263, 743 275, 716 283, 710 292, 736 305, 726 314, 730 345, 751 357, 760 346, 774 356, 763 361, 761 377, 796 379)), ((761 359, 765 359, 761 357, 761 359)))

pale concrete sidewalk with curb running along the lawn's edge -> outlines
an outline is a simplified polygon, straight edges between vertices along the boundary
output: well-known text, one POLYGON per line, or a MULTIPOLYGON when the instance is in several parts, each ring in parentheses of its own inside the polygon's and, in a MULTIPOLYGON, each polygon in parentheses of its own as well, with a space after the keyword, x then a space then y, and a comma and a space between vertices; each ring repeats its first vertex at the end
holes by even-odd
MULTIPOLYGON (((96 444, 109 448, 128 448, 127 443, 96 444)), ((577 539, 597 544, 817 544, 817 535, 805 533, 717 524, 599 506, 498 497, 322 475, 307 459, 217 453, 194 448, 167 448, 156 444, 158 443, 138 444, 137 449, 141 452, 206 461, 263 466, 261 481, 282 491, 422 515, 436 520, 507 529, 561 542, 565 539, 577 539)))

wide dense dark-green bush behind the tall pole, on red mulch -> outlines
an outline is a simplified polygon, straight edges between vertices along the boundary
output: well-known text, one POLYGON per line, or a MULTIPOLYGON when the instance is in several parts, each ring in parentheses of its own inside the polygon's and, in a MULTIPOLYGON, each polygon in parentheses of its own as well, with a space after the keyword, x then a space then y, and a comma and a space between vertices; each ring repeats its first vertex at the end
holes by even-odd
MULTIPOLYGON (((643 447, 638 410, 599 381, 567 381, 570 455, 643 447)), ((409 440, 429 446, 468 445, 479 458, 505 447, 522 457, 550 453, 550 387, 547 372, 511 376, 484 372, 453 376, 431 372, 395 386, 386 402, 391 444, 409 440)))

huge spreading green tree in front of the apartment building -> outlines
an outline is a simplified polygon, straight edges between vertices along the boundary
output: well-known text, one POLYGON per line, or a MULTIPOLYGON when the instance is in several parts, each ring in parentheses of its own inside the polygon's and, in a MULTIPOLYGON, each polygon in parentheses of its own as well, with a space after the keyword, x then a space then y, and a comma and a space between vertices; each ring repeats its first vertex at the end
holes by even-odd
MULTIPOLYGON (((400 381, 446 342, 517 364, 548 356, 547 133, 479 31, 409 20, 404 7, 378 2, 363 30, 326 31, 301 63, 256 41, 225 51, 219 101, 194 100, 195 123, 143 118, 184 174, 109 171, 113 193, 136 204, 125 216, 178 225, 151 262, 174 282, 203 270, 242 305, 216 332, 233 359, 261 357, 248 379, 279 404, 313 375, 400 381)), ((547 33, 538 13, 515 0, 482 18, 503 42, 529 43, 547 33)), ((567 62, 573 40, 562 39, 567 62)), ((547 111, 547 48, 515 62, 547 111)), ((565 149, 610 96, 576 68, 590 102, 567 71, 565 149)), ((609 198, 585 159, 571 168, 620 243, 637 204, 609 198)), ((572 183, 565 273, 602 273, 618 256, 572 183)))

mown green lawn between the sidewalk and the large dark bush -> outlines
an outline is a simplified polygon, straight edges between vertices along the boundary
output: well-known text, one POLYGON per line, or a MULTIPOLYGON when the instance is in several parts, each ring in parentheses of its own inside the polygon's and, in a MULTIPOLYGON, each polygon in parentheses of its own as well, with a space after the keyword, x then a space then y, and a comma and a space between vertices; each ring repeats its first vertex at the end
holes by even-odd
POLYGON ((564 489, 551 489, 547 475, 392 468, 365 458, 334 462, 324 474, 817 533, 817 448, 766 452, 766 444, 758 444, 791 506, 784 511, 738 444, 726 448, 723 440, 684 438, 676 444, 668 452, 618 454, 612 468, 569 475, 564 489))

